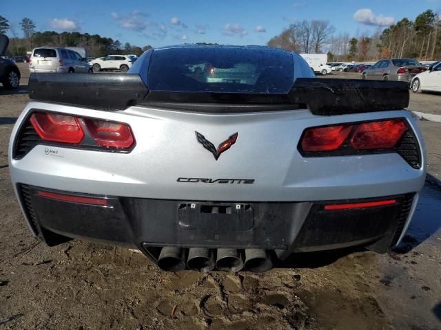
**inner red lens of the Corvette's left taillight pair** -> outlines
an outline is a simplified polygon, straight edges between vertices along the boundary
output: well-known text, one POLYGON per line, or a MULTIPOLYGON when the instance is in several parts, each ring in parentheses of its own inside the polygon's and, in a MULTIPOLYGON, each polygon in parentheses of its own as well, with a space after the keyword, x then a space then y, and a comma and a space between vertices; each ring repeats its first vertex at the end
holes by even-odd
POLYGON ((132 131, 126 124, 94 119, 85 119, 84 123, 100 146, 130 148, 134 142, 132 131))

